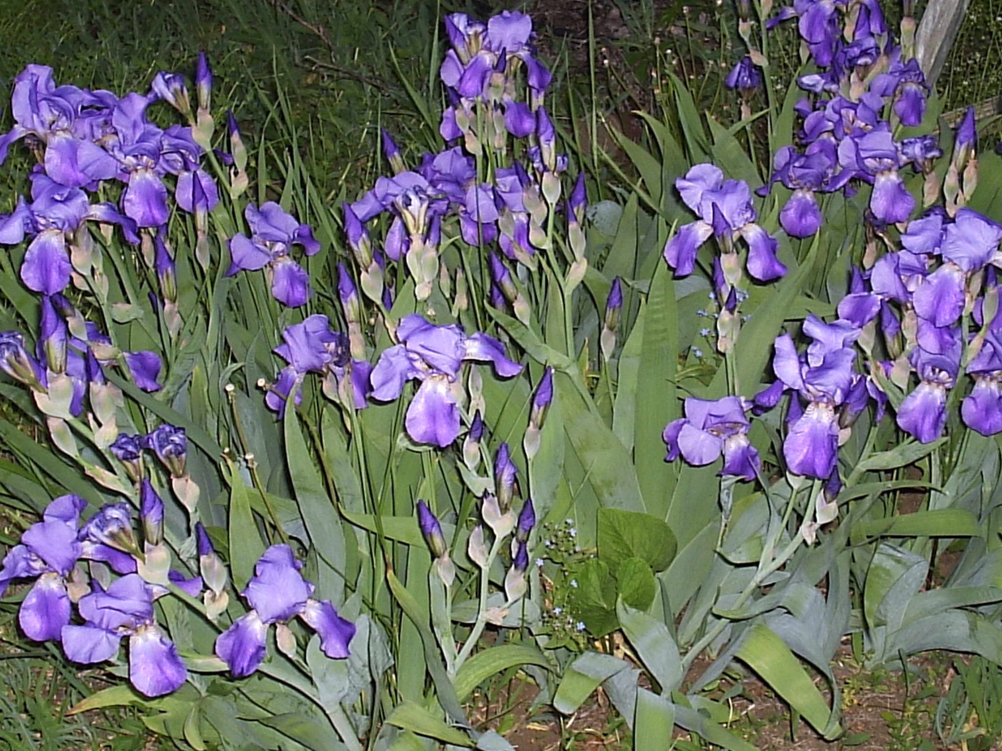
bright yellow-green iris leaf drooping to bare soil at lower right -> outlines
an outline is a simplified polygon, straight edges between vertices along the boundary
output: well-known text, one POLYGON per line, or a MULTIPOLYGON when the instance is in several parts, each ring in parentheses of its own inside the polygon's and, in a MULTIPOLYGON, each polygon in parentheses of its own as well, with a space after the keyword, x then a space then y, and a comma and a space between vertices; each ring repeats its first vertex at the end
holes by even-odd
POLYGON ((842 733, 838 723, 830 722, 832 710, 804 666, 767 626, 757 623, 748 629, 736 656, 819 733, 828 739, 842 733))

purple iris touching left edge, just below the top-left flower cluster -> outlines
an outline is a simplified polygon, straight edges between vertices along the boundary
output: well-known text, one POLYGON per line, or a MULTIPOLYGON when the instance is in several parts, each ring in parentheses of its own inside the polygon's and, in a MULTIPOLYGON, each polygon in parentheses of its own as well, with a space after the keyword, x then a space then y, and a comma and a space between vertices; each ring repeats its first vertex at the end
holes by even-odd
POLYGON ((29 289, 54 294, 66 288, 73 270, 66 238, 87 220, 121 224, 130 242, 139 241, 135 222, 110 203, 91 204, 83 190, 61 185, 41 171, 30 179, 31 203, 19 199, 12 213, 0 216, 0 244, 14 245, 26 234, 34 235, 21 264, 21 280, 29 289))

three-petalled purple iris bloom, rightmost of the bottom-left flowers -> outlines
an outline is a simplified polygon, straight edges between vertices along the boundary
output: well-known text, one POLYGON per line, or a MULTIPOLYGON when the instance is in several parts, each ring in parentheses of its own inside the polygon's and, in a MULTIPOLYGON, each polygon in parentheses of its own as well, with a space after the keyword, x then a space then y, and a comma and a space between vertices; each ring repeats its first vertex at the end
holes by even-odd
POLYGON ((303 564, 288 545, 273 545, 255 564, 255 576, 241 593, 253 610, 215 640, 217 654, 237 678, 254 673, 265 659, 268 627, 299 616, 321 639, 328 657, 345 658, 355 624, 338 615, 330 600, 313 600, 314 586, 303 578, 303 564))

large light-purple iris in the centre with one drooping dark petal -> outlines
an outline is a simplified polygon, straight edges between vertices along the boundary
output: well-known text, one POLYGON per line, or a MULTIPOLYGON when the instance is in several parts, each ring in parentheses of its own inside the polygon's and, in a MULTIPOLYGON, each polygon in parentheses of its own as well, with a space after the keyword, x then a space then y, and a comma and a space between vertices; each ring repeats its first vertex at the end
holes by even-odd
POLYGON ((391 402, 400 397, 405 382, 421 381, 405 420, 408 435, 419 444, 446 447, 459 435, 453 390, 463 360, 493 362, 502 378, 522 371, 494 337, 479 331, 468 336, 458 325, 435 325, 416 313, 400 321, 397 336, 401 343, 384 350, 373 368, 372 398, 391 402))

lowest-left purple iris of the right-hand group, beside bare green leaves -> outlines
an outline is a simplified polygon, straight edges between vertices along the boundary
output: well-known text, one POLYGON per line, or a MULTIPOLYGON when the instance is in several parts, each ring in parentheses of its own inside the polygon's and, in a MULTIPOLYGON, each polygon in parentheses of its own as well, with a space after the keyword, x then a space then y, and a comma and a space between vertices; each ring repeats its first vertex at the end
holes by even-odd
POLYGON ((666 462, 674 462, 681 456, 688 464, 701 467, 722 454, 719 475, 755 480, 760 467, 759 452, 748 443, 750 424, 739 397, 718 400, 689 397, 684 411, 684 418, 673 420, 664 428, 662 438, 668 446, 666 462))

